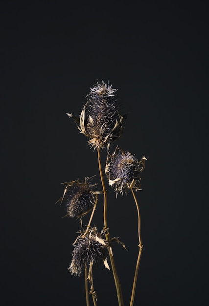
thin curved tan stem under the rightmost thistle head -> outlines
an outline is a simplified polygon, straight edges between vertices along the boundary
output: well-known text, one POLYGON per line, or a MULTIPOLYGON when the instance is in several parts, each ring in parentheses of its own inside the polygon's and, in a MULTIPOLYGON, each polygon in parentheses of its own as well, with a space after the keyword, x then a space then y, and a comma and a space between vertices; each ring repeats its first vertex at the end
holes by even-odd
POLYGON ((140 212, 139 212, 139 204, 137 202, 137 198, 135 196, 135 193, 131 187, 131 192, 134 197, 136 206, 137 206, 137 213, 138 213, 138 235, 139 235, 139 255, 137 259, 137 264, 136 264, 136 269, 135 269, 135 274, 134 274, 134 282, 133 282, 133 287, 132 287, 132 293, 131 293, 131 301, 130 301, 130 306, 134 305, 134 298, 135 298, 135 292, 136 292, 136 286, 137 286, 137 277, 138 277, 138 272, 139 272, 139 263, 140 263, 140 258, 141 258, 141 252, 142 252, 142 240, 141 240, 141 220, 140 220, 140 212))

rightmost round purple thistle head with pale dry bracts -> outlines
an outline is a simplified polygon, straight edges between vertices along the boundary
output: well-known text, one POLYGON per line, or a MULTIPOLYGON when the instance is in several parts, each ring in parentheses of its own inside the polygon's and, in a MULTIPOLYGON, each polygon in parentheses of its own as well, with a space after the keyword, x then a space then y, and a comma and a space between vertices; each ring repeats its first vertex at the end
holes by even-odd
POLYGON ((115 152, 108 154, 105 174, 109 184, 115 186, 116 196, 118 193, 123 195, 126 189, 140 189, 140 173, 145 168, 145 156, 139 161, 135 155, 127 151, 116 148, 115 152))

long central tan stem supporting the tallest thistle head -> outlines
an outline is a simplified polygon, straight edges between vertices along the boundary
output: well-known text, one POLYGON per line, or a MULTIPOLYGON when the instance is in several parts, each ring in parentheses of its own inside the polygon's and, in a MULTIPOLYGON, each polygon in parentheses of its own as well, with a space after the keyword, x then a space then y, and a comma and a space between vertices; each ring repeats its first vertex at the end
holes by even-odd
MULTIPOLYGON (((101 183, 102 183, 102 188, 103 188, 103 193, 104 193, 104 230, 107 231, 105 234, 105 238, 107 241, 110 240, 110 234, 108 231, 108 223, 107 223, 107 191, 105 189, 105 183, 104 183, 104 177, 102 173, 102 164, 101 164, 101 156, 100 156, 100 150, 98 149, 98 164, 99 164, 99 174, 101 177, 101 183)), ((112 249, 108 248, 109 251, 109 256, 110 256, 110 262, 113 270, 113 276, 115 280, 115 285, 116 285, 116 291, 117 291, 117 300, 118 300, 118 306, 123 306, 123 296, 122 296, 122 290, 121 290, 121 285, 119 281, 119 277, 117 275, 117 270, 116 270, 116 263, 112 254, 112 249)))

